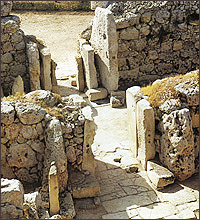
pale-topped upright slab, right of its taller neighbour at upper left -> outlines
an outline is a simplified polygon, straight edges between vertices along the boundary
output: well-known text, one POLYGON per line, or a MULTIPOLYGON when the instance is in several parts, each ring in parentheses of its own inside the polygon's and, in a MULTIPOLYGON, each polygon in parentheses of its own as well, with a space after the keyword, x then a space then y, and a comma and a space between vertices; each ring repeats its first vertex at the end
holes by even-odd
POLYGON ((51 53, 49 48, 44 47, 40 50, 41 56, 41 86, 44 90, 52 90, 52 83, 51 83, 51 53))

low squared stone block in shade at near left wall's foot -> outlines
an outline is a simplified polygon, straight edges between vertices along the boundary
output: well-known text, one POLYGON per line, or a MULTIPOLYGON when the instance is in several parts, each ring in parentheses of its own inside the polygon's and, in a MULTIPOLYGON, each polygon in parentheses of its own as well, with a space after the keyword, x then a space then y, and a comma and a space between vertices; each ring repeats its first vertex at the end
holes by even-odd
POLYGON ((69 178, 69 187, 73 198, 80 199, 100 195, 100 185, 93 175, 88 175, 82 182, 76 181, 76 178, 78 178, 78 174, 69 178))

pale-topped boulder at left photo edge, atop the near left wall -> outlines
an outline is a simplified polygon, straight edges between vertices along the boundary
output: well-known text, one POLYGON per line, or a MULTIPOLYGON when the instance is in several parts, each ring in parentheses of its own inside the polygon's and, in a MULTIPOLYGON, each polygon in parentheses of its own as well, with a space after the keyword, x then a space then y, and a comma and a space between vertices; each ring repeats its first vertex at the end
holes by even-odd
POLYGON ((15 109, 11 102, 4 101, 1 102, 1 123, 12 124, 15 117, 15 109))

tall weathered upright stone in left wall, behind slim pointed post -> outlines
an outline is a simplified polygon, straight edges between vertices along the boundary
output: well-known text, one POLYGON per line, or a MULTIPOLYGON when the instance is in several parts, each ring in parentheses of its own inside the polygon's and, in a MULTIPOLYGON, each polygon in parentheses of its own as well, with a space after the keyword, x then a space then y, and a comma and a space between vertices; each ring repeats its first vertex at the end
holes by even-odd
POLYGON ((59 192, 62 192, 67 186, 67 157, 64 151, 64 142, 60 121, 52 119, 46 128, 46 148, 44 155, 43 184, 47 183, 49 168, 55 161, 58 170, 59 192))

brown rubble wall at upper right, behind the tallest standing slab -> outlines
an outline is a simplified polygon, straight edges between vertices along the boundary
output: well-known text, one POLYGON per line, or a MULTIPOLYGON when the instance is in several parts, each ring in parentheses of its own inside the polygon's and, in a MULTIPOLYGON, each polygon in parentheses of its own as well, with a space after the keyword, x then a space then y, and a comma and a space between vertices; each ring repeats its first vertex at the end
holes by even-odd
POLYGON ((119 86, 149 84, 199 65, 199 2, 118 2, 119 86))

